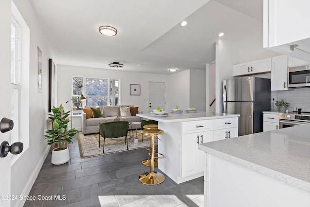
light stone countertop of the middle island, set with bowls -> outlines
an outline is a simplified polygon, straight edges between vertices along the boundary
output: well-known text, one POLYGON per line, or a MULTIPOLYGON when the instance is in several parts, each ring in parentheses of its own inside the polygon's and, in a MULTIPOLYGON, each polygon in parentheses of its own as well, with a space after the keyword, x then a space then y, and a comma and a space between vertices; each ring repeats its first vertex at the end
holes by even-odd
POLYGON ((207 120, 207 119, 221 119, 221 118, 232 118, 239 117, 239 114, 231 114, 231 113, 213 113, 206 111, 198 111, 198 112, 186 112, 182 113, 172 113, 168 111, 167 117, 158 117, 154 113, 137 113, 136 116, 152 119, 158 122, 181 122, 181 121, 195 121, 195 120, 207 120))

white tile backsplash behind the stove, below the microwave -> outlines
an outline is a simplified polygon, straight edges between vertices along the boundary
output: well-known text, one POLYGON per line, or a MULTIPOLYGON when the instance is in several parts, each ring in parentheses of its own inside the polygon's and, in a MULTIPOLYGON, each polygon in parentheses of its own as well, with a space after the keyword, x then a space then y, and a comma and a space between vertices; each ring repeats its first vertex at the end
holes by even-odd
MULTIPOLYGON (((296 111, 296 107, 301 107, 302 111, 310 111, 310 88, 294 88, 290 91, 272 91, 271 103, 272 98, 275 98, 275 102, 281 99, 289 102, 290 106, 287 107, 288 111, 296 111)), ((274 111, 278 111, 278 107, 275 105, 274 111)))

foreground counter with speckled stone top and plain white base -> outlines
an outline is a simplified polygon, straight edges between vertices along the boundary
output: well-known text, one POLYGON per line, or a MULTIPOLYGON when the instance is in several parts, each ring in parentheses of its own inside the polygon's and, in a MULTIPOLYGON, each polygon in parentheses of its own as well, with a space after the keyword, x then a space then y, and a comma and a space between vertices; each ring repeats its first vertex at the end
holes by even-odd
POLYGON ((205 207, 309 207, 310 125, 199 146, 205 207))

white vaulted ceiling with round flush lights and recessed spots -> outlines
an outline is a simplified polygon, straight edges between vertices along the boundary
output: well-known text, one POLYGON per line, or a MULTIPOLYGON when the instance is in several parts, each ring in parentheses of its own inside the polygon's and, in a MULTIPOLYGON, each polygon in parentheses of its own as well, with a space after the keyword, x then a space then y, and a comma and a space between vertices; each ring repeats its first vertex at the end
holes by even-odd
POLYGON ((263 0, 31 0, 57 64, 168 74, 205 68, 215 42, 261 35, 263 0), (180 22, 186 20, 185 27, 180 22), (99 33, 100 26, 118 30, 99 33))

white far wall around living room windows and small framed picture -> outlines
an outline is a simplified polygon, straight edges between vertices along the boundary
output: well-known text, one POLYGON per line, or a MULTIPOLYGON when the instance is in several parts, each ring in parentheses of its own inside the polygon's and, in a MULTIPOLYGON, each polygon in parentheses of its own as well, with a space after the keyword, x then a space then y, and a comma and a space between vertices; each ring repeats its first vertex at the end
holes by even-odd
MULTIPOLYGON (((57 65, 57 105, 62 104, 69 111, 71 103, 72 77, 109 78, 120 80, 119 105, 139 106, 139 111, 148 111, 149 81, 167 82, 167 75, 127 72, 111 69, 57 65), (129 85, 140 84, 140 96, 130 96, 129 85)), ((80 127, 80 117, 74 117, 73 127, 80 127)))

